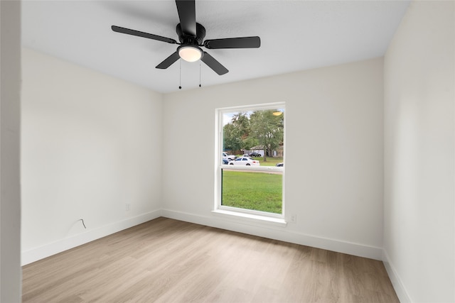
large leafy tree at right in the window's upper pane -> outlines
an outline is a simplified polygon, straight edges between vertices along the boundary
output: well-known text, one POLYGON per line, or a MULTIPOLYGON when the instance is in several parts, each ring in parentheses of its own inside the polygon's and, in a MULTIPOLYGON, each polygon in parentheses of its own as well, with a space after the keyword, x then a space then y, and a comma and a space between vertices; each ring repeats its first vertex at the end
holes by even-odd
POLYGON ((264 162, 267 162, 267 150, 276 150, 284 138, 284 114, 275 116, 277 110, 255 111, 250 116, 250 136, 255 138, 264 150, 264 162))

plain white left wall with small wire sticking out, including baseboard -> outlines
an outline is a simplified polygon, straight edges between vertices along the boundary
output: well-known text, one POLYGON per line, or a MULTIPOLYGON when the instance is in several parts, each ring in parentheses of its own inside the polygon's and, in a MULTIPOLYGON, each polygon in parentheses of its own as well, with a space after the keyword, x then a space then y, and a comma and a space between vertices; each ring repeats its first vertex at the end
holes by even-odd
POLYGON ((22 62, 23 263, 159 216, 161 94, 29 49, 22 62))

